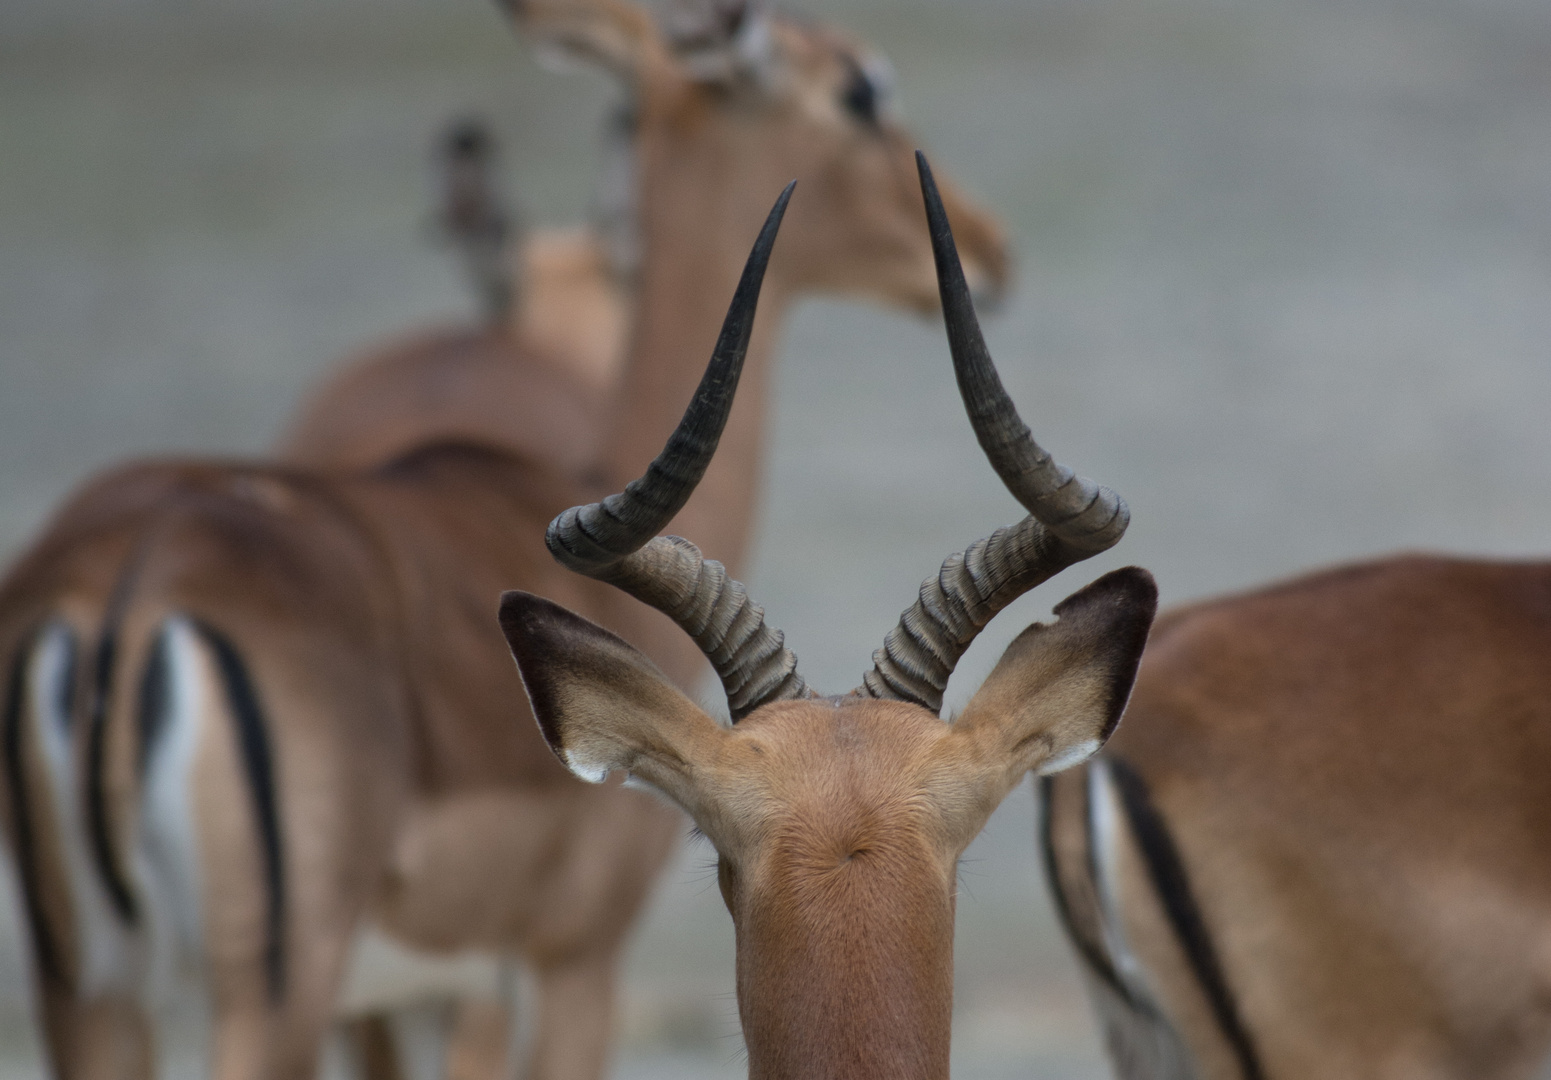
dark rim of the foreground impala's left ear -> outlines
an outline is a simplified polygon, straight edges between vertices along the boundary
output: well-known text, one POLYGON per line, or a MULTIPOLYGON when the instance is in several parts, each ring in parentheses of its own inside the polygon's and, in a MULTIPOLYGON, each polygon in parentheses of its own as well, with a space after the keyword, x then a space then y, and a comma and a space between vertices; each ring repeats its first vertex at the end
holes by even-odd
POLYGON ((523 678, 523 689, 527 691, 527 701, 532 706, 538 729, 549 743, 549 749, 571 768, 565 754, 565 739, 557 725, 560 715, 560 675, 574 669, 577 650, 582 642, 591 649, 603 647, 617 650, 630 656, 634 663, 668 681, 658 666, 628 641, 610 630, 597 625, 571 608, 554 601, 509 590, 501 593, 499 608, 501 633, 516 661, 516 672, 523 678))

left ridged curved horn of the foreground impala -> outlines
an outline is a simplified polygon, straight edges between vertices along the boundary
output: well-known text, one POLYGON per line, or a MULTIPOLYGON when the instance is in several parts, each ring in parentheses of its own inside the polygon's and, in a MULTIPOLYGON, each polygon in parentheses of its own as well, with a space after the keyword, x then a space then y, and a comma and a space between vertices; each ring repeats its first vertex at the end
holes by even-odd
POLYGON ((624 492, 572 506, 544 534, 549 554, 565 566, 616 585, 678 622, 721 677, 734 720, 766 701, 808 697, 797 658, 720 562, 704 559, 682 537, 658 532, 689 501, 717 453, 743 372, 760 282, 796 183, 786 185, 765 219, 706 374, 662 453, 624 492))

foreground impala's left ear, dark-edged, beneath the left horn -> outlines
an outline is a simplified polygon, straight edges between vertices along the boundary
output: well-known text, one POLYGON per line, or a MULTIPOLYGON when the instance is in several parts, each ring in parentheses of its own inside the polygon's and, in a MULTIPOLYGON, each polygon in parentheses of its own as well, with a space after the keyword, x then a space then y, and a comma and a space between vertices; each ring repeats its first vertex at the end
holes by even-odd
POLYGON ((720 753, 721 725, 641 652, 558 604, 506 593, 501 630, 538 729, 566 768, 592 784, 625 770, 695 812, 690 774, 720 753))

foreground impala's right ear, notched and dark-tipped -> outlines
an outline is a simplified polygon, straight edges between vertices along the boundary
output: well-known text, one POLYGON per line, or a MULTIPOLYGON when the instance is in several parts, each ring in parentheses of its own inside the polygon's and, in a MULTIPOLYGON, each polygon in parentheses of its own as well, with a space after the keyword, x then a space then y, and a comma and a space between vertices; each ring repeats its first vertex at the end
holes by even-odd
POLYGON ((954 722, 955 737, 993 774, 1005 771, 1008 790, 1028 770, 1092 757, 1120 723, 1157 602, 1152 574, 1135 566, 1061 601, 1056 622, 1036 622, 1007 647, 954 722))

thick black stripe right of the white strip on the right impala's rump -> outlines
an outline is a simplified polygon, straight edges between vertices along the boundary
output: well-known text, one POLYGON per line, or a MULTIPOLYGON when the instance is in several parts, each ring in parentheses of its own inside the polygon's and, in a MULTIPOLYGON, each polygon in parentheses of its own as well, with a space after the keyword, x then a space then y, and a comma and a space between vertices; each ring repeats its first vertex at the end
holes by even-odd
POLYGON ((1152 878, 1152 888, 1157 889, 1163 912, 1174 926, 1190 968, 1207 995, 1218 1027, 1222 1029, 1222 1037, 1233 1047, 1244 1080, 1264 1080, 1266 1072, 1261 1069, 1255 1043, 1239 1018, 1239 1009, 1222 973, 1218 950, 1211 945, 1211 936, 1207 933, 1196 894, 1191 892, 1190 875, 1185 872, 1179 846, 1174 843, 1163 816, 1152 805, 1142 776, 1118 757, 1107 760, 1115 776, 1115 787, 1120 790, 1120 802, 1126 810, 1126 821, 1131 824, 1131 832, 1137 838, 1142 858, 1148 866, 1148 877, 1152 878))

